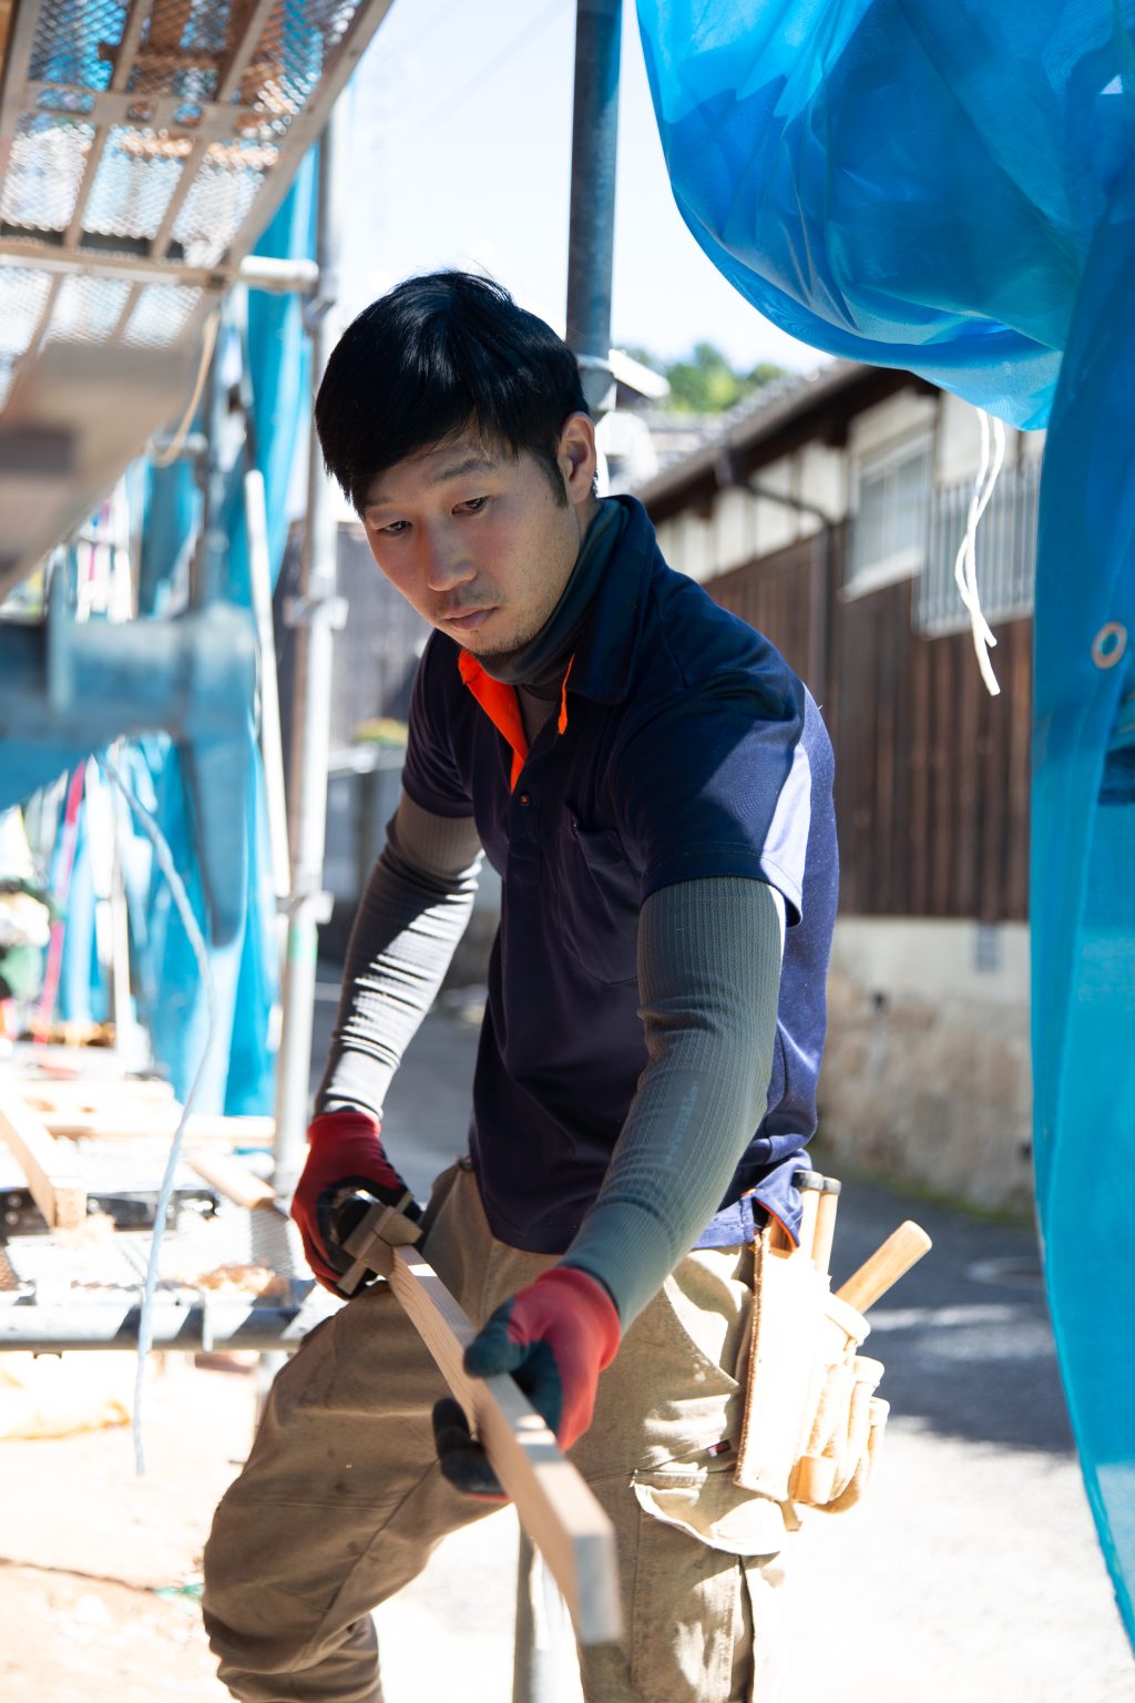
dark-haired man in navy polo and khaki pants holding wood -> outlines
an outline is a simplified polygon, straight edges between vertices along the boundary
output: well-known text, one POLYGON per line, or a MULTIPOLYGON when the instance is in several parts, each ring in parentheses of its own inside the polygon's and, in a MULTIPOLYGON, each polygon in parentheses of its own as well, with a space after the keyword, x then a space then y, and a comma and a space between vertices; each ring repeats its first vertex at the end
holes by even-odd
MULTIPOLYGON (((425 1253, 614 1521, 625 1650, 589 1703, 779 1694, 784 1521, 735 1487, 752 1240, 800 1219, 836 906, 830 748, 803 685, 599 501, 567 346, 497 284, 368 308, 317 402, 379 571, 434 625, 356 921, 296 1189, 311 1267, 335 1204, 403 1184, 379 1124, 468 920, 502 916, 470 1153, 425 1253)), ((276 1381, 218 1511, 206 1620, 233 1694, 378 1703, 369 1609, 497 1485, 379 1286, 276 1381), (441 1449, 441 1463, 436 1449, 441 1449), (471 1494, 470 1494, 471 1492, 471 1494)))

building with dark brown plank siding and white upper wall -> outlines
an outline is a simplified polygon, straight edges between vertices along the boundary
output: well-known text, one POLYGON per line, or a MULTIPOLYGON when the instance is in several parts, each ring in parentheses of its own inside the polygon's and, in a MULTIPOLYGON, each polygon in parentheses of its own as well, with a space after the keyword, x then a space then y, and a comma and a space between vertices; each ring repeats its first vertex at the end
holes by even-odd
POLYGON ((1029 1177, 1028 797, 1041 434, 1009 431, 977 530, 990 697, 955 584, 980 416, 830 363, 636 496, 667 560, 807 679, 836 748, 841 918, 822 1136, 992 1206, 1029 1177))

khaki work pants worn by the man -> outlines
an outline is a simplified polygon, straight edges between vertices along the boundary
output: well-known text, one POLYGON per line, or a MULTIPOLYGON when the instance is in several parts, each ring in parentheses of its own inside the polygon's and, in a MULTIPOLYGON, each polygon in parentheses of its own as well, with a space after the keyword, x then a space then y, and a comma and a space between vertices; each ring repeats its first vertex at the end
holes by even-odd
MULTIPOLYGON (((480 1325, 553 1265, 495 1241, 473 1173, 434 1185, 425 1253, 480 1325)), ((783 1517, 732 1483, 747 1248, 687 1255, 626 1332, 572 1451, 616 1529, 626 1645, 582 1650, 587 1703, 779 1703, 783 1517)), ((245 1703, 381 1703, 371 1609, 485 1504, 441 1477, 446 1386, 378 1286, 279 1373, 248 1463, 218 1507, 204 1618, 245 1703)))

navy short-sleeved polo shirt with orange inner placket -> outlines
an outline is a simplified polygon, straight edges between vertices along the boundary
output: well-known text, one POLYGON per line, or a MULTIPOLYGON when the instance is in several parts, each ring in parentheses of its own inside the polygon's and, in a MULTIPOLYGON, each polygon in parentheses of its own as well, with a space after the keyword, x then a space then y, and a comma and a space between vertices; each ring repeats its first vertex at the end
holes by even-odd
POLYGON ((536 1253, 573 1240, 647 1064, 638 911, 660 887, 747 875, 790 923, 767 1110, 698 1247, 747 1240, 761 1207, 795 1233, 815 1131, 837 889, 827 732, 767 639, 669 569, 642 504, 618 501, 630 516, 562 714, 522 761, 512 688, 442 634, 410 710, 407 794, 471 812, 502 879, 470 1139, 493 1235, 536 1253))

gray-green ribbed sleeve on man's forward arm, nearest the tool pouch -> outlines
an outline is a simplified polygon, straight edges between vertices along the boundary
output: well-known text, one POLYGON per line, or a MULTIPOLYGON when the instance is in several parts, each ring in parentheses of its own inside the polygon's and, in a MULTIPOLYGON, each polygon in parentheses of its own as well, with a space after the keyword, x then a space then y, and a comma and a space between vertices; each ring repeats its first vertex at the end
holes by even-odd
POLYGON ((664 887, 642 908, 648 1063, 563 1257, 609 1289, 625 1330, 718 1211, 764 1117, 783 918, 773 887, 737 875, 664 887))

